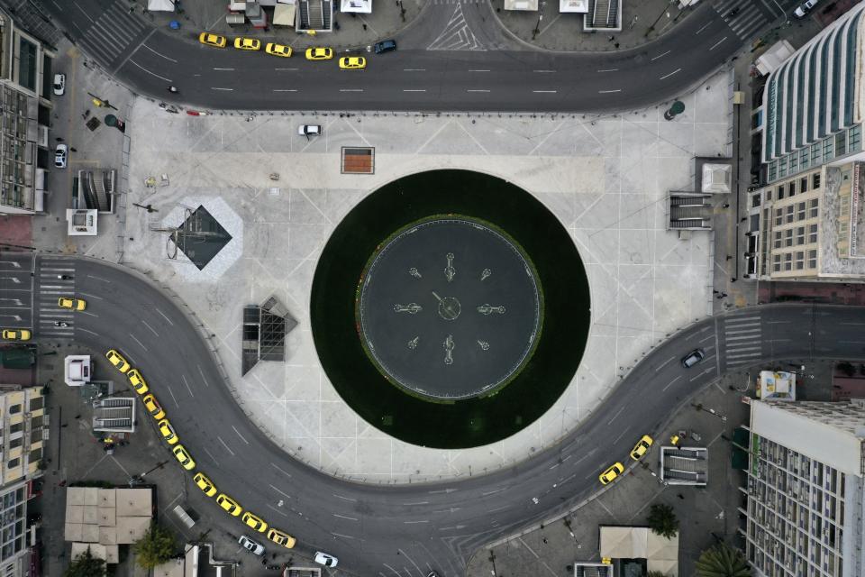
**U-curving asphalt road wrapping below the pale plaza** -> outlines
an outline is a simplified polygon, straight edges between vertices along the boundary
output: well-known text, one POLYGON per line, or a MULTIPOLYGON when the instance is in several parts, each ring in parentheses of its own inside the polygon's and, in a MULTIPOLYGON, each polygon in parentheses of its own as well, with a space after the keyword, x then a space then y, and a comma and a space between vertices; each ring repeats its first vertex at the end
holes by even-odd
MULTIPOLYGON (((599 472, 615 460, 631 463, 628 452, 641 435, 656 434, 678 403, 724 371, 769 359, 865 358, 865 308, 775 305, 709 318, 648 353, 554 449, 462 481, 360 485, 297 462, 251 424, 196 326, 158 288, 105 262, 69 261, 77 294, 88 299, 75 340, 126 355, 197 468, 244 508, 296 536, 298 553, 337 555, 333 574, 423 577, 432 568, 461 575, 478 546, 600 490, 599 472), (706 360, 683 369, 679 359, 695 347, 706 350, 706 360)), ((625 474, 654 482, 642 468, 625 474)))

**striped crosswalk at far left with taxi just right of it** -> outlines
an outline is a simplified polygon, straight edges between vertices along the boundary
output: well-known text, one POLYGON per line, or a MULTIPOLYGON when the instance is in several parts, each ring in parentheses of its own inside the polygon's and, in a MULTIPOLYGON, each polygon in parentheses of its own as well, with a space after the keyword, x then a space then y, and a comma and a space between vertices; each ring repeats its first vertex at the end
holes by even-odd
POLYGON ((75 314, 60 308, 57 301, 60 297, 75 295, 74 263, 42 257, 36 270, 36 287, 36 322, 33 328, 37 334, 71 339, 75 333, 75 314))

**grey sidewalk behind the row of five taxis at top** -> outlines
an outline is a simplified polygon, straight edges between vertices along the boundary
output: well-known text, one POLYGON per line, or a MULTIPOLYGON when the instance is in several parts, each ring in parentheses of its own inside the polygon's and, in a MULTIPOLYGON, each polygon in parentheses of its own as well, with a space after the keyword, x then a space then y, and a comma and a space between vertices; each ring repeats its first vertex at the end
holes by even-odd
POLYGON ((230 26, 225 23, 226 2, 214 2, 213 0, 183 0, 181 14, 171 12, 147 12, 147 0, 132 0, 136 10, 144 13, 150 22, 158 28, 168 31, 168 23, 177 20, 182 28, 177 32, 190 42, 195 38, 190 32, 208 31, 223 34, 229 37, 249 36, 260 38, 262 41, 276 41, 295 50, 302 50, 310 46, 330 46, 334 50, 358 49, 372 46, 377 41, 385 40, 396 35, 407 26, 411 25, 423 8, 428 5, 428 0, 404 0, 402 6, 405 9, 404 17, 400 15, 400 8, 395 0, 382 0, 373 3, 372 14, 349 14, 339 12, 339 0, 333 5, 333 25, 331 33, 317 35, 299 34, 294 28, 287 26, 269 26, 267 29, 259 30, 253 28, 250 23, 230 26), (339 29, 336 27, 339 26, 339 29))

